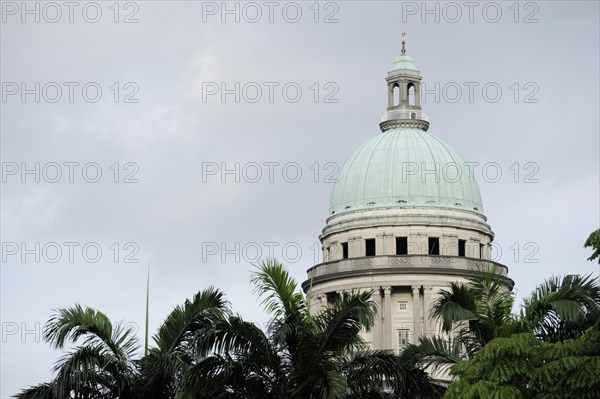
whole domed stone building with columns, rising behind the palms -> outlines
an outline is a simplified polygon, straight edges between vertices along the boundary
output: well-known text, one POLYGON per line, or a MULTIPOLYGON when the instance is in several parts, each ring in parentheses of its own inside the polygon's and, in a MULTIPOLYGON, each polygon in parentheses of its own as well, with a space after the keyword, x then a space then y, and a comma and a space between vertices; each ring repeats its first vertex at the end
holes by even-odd
POLYGON ((388 107, 371 138, 346 161, 333 187, 320 235, 323 262, 303 283, 313 309, 345 290, 372 290, 379 306, 373 349, 399 350, 439 325, 431 303, 450 282, 485 270, 494 233, 468 164, 429 133, 421 108, 421 74, 402 53, 388 72, 388 107))

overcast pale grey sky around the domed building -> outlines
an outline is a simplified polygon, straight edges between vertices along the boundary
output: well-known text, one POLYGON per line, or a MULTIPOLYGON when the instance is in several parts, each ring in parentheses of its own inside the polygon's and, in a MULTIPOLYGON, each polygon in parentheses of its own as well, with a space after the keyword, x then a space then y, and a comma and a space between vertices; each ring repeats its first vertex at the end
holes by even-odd
POLYGON ((264 325, 252 264, 298 282, 344 161, 381 134, 406 32, 429 133, 474 165, 517 302, 590 274, 599 3, 1 2, 0 397, 49 381, 79 303, 150 331, 209 286, 264 325))

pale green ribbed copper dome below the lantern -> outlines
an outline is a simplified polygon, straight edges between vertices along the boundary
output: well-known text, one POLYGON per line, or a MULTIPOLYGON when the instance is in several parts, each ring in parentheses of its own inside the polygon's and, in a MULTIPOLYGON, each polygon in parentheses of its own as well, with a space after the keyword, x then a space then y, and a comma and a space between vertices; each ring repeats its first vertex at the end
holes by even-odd
POLYGON ((422 129, 397 127, 373 137, 346 161, 331 193, 329 216, 415 207, 483 216, 479 186, 462 157, 422 129))

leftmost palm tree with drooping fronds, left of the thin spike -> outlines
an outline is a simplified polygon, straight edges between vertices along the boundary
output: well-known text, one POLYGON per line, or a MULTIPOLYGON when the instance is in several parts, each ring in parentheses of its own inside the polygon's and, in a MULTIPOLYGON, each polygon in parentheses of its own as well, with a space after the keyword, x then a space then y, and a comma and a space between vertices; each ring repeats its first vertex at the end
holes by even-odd
POLYGON ((43 336, 55 349, 64 349, 68 342, 77 346, 56 363, 51 383, 23 390, 17 398, 138 397, 133 360, 138 344, 132 327, 113 325, 104 313, 76 304, 58 309, 43 336))

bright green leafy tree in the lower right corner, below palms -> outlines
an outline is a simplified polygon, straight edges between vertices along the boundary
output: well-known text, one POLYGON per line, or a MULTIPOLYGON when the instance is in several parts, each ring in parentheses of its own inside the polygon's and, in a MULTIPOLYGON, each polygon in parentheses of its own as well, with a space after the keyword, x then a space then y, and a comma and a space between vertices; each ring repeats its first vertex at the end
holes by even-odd
POLYGON ((598 398, 600 331, 556 343, 532 333, 497 338, 451 374, 448 399, 598 398))

